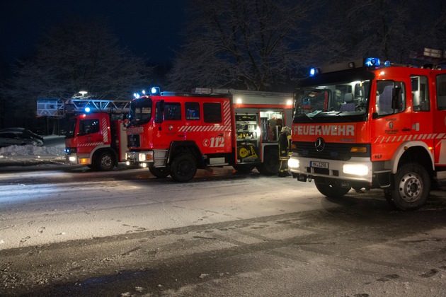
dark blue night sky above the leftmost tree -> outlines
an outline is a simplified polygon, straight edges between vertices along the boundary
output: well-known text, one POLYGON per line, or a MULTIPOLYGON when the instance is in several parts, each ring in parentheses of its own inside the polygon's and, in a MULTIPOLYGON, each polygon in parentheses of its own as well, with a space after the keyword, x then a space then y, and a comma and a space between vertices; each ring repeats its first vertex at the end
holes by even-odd
POLYGON ((0 57, 11 63, 33 52, 40 36, 72 17, 101 17, 123 46, 149 62, 179 50, 187 0, 1 0, 0 57))

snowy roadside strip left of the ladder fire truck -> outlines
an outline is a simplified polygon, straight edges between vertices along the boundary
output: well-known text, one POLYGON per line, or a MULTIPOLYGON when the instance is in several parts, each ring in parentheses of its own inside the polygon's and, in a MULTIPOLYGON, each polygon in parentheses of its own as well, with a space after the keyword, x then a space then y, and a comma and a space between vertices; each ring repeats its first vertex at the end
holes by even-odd
POLYGON ((44 136, 44 146, 6 146, 0 148, 0 167, 65 164, 64 136, 44 136))

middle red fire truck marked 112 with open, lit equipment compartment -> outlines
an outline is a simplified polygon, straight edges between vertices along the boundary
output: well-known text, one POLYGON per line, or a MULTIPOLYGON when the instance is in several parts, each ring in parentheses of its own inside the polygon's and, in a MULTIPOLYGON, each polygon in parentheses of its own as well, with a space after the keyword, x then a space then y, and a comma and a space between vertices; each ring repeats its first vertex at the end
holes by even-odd
POLYGON ((130 104, 127 164, 148 167, 156 177, 171 175, 178 182, 212 166, 278 173, 278 134, 291 120, 292 94, 152 90, 130 104))

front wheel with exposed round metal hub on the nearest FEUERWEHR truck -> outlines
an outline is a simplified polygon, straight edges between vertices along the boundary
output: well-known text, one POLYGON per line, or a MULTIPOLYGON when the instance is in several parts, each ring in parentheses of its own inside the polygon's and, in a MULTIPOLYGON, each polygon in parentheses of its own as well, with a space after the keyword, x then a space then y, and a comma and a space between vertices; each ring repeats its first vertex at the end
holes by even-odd
POLYGON ((419 209, 430 192, 430 177, 418 163, 408 163, 394 175, 394 189, 384 193, 387 201, 402 211, 419 209))

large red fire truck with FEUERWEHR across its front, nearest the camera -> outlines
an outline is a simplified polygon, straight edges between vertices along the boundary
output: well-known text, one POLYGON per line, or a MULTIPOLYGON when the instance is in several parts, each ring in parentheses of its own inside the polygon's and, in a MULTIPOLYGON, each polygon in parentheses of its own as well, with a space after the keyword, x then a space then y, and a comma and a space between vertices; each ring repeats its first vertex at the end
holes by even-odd
POLYGON ((327 197, 380 188, 397 209, 418 209, 446 170, 446 70, 376 58, 311 69, 288 163, 327 197))

